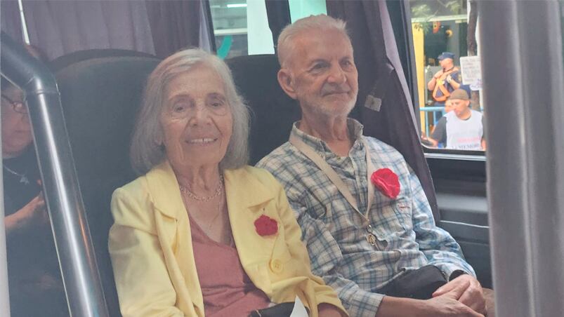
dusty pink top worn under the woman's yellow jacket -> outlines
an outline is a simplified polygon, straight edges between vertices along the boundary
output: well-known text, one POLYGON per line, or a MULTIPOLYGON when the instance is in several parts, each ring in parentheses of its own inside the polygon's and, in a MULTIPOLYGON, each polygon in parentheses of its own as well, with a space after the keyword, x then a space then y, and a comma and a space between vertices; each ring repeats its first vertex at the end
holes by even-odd
POLYGON ((207 236, 190 217, 192 246, 206 317, 249 316, 270 299, 245 273, 237 249, 207 236))

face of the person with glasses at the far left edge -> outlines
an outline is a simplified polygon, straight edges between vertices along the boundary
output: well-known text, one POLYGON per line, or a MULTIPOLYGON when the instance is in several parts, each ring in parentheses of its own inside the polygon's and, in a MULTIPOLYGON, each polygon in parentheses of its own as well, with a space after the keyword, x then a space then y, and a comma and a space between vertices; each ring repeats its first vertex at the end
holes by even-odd
POLYGON ((18 88, 11 86, 2 92, 2 155, 5 158, 22 154, 33 142, 32 127, 22 102, 23 95, 18 88))

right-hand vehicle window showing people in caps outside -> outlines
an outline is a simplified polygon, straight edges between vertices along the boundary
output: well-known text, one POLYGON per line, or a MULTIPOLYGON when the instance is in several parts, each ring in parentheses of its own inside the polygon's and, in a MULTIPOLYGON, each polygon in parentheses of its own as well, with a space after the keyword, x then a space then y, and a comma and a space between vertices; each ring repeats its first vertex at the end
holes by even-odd
POLYGON ((418 87, 414 93, 419 97, 421 142, 428 148, 485 151, 487 146, 472 3, 409 1, 418 87))

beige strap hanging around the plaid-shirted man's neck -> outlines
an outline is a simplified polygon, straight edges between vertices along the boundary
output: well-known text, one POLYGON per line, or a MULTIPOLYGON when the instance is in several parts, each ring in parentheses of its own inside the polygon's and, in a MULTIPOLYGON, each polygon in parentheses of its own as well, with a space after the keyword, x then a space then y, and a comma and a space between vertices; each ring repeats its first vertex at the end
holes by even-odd
POLYGON ((368 215, 370 213, 370 207, 372 206, 372 201, 374 198, 374 186, 372 186, 370 182, 370 175, 372 175, 372 173, 374 172, 374 164, 372 163, 372 159, 370 159, 370 151, 368 149, 368 145, 366 144, 365 140, 362 139, 362 137, 360 140, 364 145, 366 151, 366 167, 367 167, 366 177, 368 184, 368 201, 367 201, 365 213, 362 213, 360 211, 355 197, 353 196, 353 194, 350 193, 350 190, 343 182, 343 180, 341 180, 339 174, 337 174, 335 170, 331 166, 329 166, 329 164, 319 154, 317 154, 317 152, 314 149, 312 149, 310 146, 308 146, 308 144, 304 143, 302 140, 299 139, 299 137, 296 137, 296 135, 294 134, 290 135, 289 141, 292 145, 294 145, 294 147, 299 149, 303 153, 303 155, 307 156, 311 161, 313 161, 313 163, 315 163, 315 165, 317 165, 317 167, 320 168, 320 170, 322 170, 322 172, 325 173, 325 175, 327 175, 329 180, 331 180, 331 182, 337 187, 337 189, 339 189, 339 192, 341 192, 341 194, 345 197, 346 201, 348 201, 348 203, 354 208, 354 210, 357 213, 359 213, 359 215, 362 216, 362 218, 364 218, 365 225, 368 225, 369 224, 368 215))

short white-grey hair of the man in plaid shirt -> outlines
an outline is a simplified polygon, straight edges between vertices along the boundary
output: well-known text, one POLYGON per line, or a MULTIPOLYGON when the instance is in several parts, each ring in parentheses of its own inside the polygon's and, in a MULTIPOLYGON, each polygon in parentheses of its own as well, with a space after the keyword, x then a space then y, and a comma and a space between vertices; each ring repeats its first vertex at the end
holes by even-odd
POLYGON ((301 18, 291 25, 284 27, 282 32, 280 32, 280 36, 278 36, 278 61, 282 67, 284 67, 284 64, 287 62, 291 54, 294 53, 295 46, 293 38, 297 34, 311 29, 336 29, 337 31, 342 32, 350 41, 350 37, 348 36, 346 29, 346 22, 341 19, 332 18, 324 14, 310 15, 306 18, 301 18))

